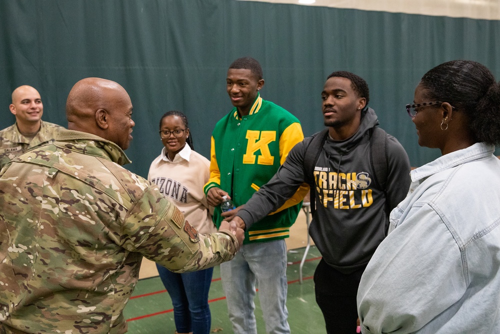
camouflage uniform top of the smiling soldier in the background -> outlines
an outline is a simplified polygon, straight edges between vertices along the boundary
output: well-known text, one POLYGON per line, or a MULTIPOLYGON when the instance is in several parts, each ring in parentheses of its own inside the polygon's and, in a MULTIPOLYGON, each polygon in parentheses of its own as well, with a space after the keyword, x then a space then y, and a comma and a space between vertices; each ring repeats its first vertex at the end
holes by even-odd
POLYGON ((17 130, 15 124, 0 131, 0 169, 10 160, 26 152, 36 145, 53 141, 59 130, 64 129, 60 125, 41 121, 40 131, 29 140, 17 130))

